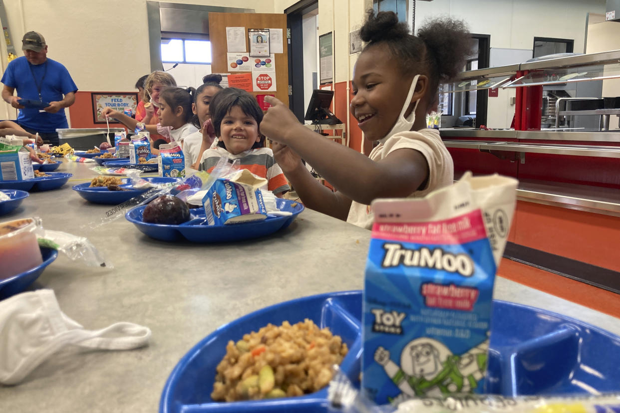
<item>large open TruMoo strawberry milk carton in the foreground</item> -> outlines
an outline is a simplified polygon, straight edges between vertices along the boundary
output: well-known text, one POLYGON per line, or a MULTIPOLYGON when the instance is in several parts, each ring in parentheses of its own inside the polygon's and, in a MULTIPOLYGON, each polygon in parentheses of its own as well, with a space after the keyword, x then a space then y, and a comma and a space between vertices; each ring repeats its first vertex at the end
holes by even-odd
POLYGON ((467 173, 423 199, 373 202, 362 386, 376 403, 482 389, 516 185, 467 173))

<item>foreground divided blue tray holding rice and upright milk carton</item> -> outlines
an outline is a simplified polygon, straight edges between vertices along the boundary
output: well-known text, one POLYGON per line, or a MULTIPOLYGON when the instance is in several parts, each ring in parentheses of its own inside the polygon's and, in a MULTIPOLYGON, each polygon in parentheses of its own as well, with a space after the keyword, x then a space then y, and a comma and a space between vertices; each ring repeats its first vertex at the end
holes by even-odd
MULTIPOLYGON (((326 412, 326 388, 298 398, 213 402, 215 368, 226 354, 228 341, 237 341, 268 323, 280 325, 288 320, 294 324, 309 318, 347 343, 349 352, 340 369, 359 386, 361 311, 361 291, 334 292, 268 306, 224 324, 174 367, 159 411, 326 412)), ((485 383, 485 393, 504 396, 618 391, 620 337, 551 311, 495 300, 485 383)))

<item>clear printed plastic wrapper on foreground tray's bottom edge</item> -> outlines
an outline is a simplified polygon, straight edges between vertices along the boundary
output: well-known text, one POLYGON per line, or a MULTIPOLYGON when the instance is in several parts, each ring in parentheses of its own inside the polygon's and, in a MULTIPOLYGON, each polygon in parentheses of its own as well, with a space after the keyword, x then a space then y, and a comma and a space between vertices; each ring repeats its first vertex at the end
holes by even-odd
POLYGON ((330 412, 342 413, 614 413, 620 411, 620 393, 571 396, 517 396, 466 394, 448 398, 417 398, 397 406, 379 406, 356 388, 334 366, 327 389, 330 412))

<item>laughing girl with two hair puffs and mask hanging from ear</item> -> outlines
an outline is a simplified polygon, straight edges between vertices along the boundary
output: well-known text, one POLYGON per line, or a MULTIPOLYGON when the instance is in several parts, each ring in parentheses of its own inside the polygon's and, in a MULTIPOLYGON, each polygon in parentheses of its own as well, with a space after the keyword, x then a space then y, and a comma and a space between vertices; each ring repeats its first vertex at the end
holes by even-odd
POLYGON ((275 159, 306 207, 371 228, 377 198, 422 197, 451 185, 453 162, 426 113, 440 82, 463 70, 472 40, 463 22, 425 22, 417 37, 393 12, 368 12, 360 35, 367 42, 353 69, 350 111, 379 144, 366 157, 299 124, 279 100, 260 124, 275 143, 275 159), (317 182, 301 159, 337 189, 317 182))

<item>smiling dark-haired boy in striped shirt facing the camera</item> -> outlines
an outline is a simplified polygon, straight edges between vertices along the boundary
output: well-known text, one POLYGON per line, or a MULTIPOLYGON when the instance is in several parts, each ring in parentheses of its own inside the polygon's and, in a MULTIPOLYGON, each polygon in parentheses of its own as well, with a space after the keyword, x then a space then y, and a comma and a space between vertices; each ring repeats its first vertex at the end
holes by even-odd
POLYGON ((259 130, 263 111, 254 96, 229 87, 213 97, 209 111, 219 141, 215 149, 205 150, 199 169, 211 172, 220 157, 228 155, 229 159, 239 159, 242 169, 267 178, 266 189, 282 198, 291 188, 273 159, 272 150, 264 147, 265 136, 259 130))

